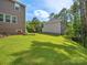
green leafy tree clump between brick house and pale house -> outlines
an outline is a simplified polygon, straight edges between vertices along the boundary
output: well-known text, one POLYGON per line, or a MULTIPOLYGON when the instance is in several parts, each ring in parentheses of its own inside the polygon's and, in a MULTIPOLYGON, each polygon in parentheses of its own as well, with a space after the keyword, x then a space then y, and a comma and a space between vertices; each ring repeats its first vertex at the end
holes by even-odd
POLYGON ((42 23, 37 18, 33 18, 31 22, 28 23, 26 29, 29 32, 41 32, 42 23))

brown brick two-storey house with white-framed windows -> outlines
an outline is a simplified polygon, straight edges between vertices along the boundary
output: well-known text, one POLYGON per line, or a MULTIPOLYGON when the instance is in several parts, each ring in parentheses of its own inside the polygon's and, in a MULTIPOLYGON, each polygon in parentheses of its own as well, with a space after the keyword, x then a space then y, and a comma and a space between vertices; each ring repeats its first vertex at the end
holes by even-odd
POLYGON ((0 33, 25 33, 25 6, 17 0, 0 0, 0 33))

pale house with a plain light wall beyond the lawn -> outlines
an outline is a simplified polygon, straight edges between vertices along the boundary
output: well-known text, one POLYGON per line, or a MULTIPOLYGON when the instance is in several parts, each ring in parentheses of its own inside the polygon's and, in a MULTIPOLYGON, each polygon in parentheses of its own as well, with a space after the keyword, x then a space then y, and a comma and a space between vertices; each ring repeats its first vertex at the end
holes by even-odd
POLYGON ((52 34, 64 34, 64 25, 61 23, 59 19, 52 19, 44 23, 42 32, 52 34))

